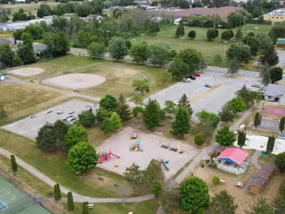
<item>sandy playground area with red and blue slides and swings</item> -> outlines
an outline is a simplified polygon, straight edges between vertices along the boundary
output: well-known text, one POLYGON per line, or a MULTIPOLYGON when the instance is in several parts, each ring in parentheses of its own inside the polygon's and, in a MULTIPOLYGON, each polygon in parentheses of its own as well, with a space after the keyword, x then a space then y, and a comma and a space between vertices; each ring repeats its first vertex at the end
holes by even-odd
POLYGON ((197 154, 197 148, 183 146, 179 141, 134 131, 127 127, 96 148, 100 155, 97 166, 123 175, 133 163, 143 169, 147 168, 151 159, 155 159, 165 170, 166 178, 170 178, 197 154))

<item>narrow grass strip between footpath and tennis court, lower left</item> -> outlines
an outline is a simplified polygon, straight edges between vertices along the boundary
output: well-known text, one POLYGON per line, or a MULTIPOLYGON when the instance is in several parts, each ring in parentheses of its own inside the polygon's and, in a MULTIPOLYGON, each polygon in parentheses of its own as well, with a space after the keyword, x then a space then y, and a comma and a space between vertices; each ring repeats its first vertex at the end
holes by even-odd
MULTIPOLYGON (((13 173, 11 169, 11 160, 9 158, 6 158, 5 156, 0 156, 0 167, 11 174, 13 173)), ((21 182, 33 188, 33 190, 36 190, 38 193, 45 197, 48 196, 49 191, 53 191, 53 188, 50 185, 46 184, 42 180, 38 179, 36 176, 29 173, 20 165, 18 165, 16 178, 18 178, 19 180, 21 180, 21 182)))

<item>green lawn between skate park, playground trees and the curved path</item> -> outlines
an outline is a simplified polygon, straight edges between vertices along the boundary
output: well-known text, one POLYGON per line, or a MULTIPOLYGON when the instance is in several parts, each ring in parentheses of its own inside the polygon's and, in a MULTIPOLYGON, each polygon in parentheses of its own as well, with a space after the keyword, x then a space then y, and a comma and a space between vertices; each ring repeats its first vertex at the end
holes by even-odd
POLYGON ((118 197, 118 190, 115 189, 113 183, 118 183, 118 185, 126 183, 122 175, 102 168, 94 168, 86 175, 77 176, 66 164, 66 151, 42 153, 31 139, 1 129, 0 135, 1 148, 14 153, 26 163, 33 165, 43 174, 75 193, 98 198, 118 197), (104 181, 98 180, 98 177, 104 178, 104 181))

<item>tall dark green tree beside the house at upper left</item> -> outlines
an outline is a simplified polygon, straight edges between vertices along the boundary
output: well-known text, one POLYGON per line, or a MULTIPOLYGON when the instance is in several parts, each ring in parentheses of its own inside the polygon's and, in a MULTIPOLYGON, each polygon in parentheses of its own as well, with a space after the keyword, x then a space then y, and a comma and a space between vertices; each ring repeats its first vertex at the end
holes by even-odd
POLYGON ((21 61, 23 61, 25 65, 36 62, 36 54, 33 52, 33 39, 31 38, 31 34, 22 34, 21 40, 22 44, 17 51, 21 61))

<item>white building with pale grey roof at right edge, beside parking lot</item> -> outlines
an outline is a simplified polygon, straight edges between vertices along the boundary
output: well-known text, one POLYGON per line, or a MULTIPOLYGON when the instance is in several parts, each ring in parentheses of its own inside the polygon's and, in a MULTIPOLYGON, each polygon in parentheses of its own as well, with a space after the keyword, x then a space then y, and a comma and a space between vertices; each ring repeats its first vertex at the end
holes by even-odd
POLYGON ((264 100, 284 103, 285 102, 284 94, 285 94, 285 86, 269 84, 264 93, 264 100))

